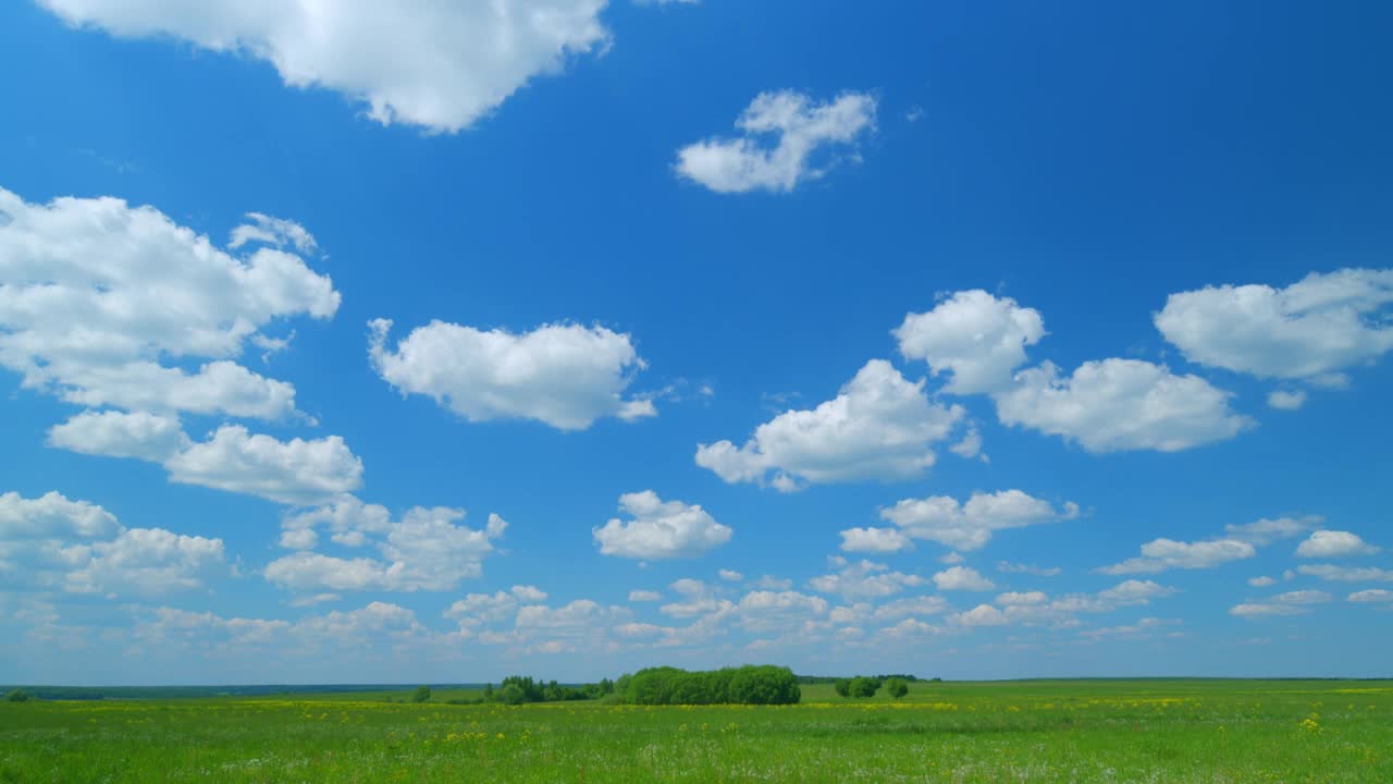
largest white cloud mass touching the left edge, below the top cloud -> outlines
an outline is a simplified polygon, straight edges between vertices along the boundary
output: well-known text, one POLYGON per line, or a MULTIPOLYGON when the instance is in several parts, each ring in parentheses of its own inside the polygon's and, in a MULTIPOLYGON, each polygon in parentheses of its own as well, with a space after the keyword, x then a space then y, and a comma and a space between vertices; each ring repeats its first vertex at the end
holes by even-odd
POLYGON ((91 407, 290 414, 290 384, 233 360, 267 326, 332 317, 340 297, 301 257, 259 246, 233 255, 118 198, 36 205, 0 190, 0 367, 91 407))

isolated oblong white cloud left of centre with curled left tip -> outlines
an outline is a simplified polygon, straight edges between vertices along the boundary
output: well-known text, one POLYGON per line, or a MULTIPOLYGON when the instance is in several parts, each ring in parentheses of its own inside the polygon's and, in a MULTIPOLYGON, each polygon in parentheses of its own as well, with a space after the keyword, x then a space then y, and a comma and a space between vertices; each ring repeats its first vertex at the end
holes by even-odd
POLYGON ((549 324, 521 335, 432 321, 387 349, 391 322, 369 324, 378 375, 403 395, 426 395, 468 421, 531 419, 585 430, 600 417, 634 420, 657 412, 624 398, 642 370, 628 335, 603 326, 549 324))

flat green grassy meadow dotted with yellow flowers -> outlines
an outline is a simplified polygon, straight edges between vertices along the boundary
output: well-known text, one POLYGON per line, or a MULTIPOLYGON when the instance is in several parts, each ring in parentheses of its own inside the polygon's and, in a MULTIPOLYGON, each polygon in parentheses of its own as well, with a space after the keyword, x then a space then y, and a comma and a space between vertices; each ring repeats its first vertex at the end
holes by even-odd
POLYGON ((790 707, 386 702, 408 695, 0 703, 0 781, 1393 781, 1389 681, 914 684, 900 702, 815 685, 790 707))

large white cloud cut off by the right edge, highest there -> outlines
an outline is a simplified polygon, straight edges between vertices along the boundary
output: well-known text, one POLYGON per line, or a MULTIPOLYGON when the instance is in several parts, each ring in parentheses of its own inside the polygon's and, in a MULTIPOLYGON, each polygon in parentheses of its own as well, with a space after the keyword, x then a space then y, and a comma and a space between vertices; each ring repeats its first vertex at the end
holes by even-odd
POLYGON ((1393 269, 1340 269, 1286 289, 1172 294, 1156 328, 1194 363, 1262 378, 1315 378, 1393 350, 1393 269))

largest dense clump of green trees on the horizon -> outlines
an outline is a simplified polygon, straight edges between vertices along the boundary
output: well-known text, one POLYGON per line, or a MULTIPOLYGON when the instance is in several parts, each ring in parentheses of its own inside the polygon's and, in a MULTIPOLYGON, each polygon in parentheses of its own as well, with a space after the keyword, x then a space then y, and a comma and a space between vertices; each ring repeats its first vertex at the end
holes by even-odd
POLYGON ((795 704, 801 698, 793 670, 773 665, 651 667, 614 681, 614 700, 628 704, 795 704))

